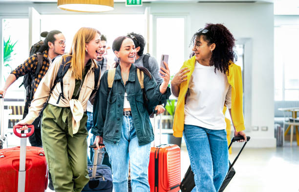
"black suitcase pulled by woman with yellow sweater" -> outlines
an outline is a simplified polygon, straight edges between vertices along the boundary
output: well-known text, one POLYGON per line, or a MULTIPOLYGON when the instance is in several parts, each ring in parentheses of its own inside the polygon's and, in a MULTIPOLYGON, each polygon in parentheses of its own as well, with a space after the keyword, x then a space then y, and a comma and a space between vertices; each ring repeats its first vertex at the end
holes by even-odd
MULTIPOLYGON (((232 144, 235 142, 235 141, 238 141, 238 140, 242 140, 244 139, 243 137, 234 137, 229 145, 229 149, 231 148, 232 144)), ((250 136, 247 136, 247 142, 250 140, 250 136)), ((229 162, 229 170, 228 170, 228 173, 219 189, 219 192, 223 192, 223 190, 226 188, 226 186, 229 184, 229 182, 232 180, 232 178, 234 177, 235 175, 235 169, 233 168, 233 166, 235 165, 235 161, 238 159, 239 155, 241 154, 241 152, 243 151, 246 143, 244 143, 242 149, 240 150, 240 152, 238 153, 238 155, 235 157, 235 160, 233 161, 233 163, 231 164, 231 162, 229 162)), ((181 184, 180 184, 180 189, 182 192, 191 192, 192 189, 195 187, 195 182, 194 182, 194 173, 192 172, 191 170, 191 166, 189 166, 181 184)))

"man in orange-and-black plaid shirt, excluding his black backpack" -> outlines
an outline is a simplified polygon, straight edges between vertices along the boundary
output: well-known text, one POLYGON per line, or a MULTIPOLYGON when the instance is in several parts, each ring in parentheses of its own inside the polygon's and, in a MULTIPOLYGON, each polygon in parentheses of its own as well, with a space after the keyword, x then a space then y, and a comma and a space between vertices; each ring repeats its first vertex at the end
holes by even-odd
MULTIPOLYGON (((32 95, 34 95, 39 83, 41 82, 43 76, 49 69, 49 66, 52 64, 52 60, 64 54, 65 49, 65 38, 61 31, 52 30, 50 32, 41 33, 42 37, 45 37, 44 43, 39 49, 39 52, 43 53, 43 65, 40 69, 38 77, 36 77, 33 81, 33 89, 32 95)), ((4 87, 0 90, 0 94, 5 96, 5 93, 8 87, 13 84, 19 77, 24 76, 28 73, 34 74, 38 65, 38 57, 36 54, 33 54, 29 58, 25 60, 21 65, 19 65, 15 70, 11 72, 11 74, 7 77, 4 87)), ((30 107, 31 98, 26 97, 26 103, 24 109, 24 115, 28 113, 28 108, 30 107)), ((42 137, 41 137, 41 129, 38 126, 40 122, 40 118, 37 118, 32 124, 35 128, 35 133, 29 137, 29 141, 31 146, 35 147, 43 147, 42 137)))

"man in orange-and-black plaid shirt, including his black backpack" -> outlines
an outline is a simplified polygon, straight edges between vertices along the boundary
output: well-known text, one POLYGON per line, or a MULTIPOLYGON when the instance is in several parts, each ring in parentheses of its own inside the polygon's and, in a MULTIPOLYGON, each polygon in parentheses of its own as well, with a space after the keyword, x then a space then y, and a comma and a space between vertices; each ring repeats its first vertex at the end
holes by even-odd
MULTIPOLYGON (((25 76, 23 84, 26 88, 26 99, 23 117, 27 115, 34 93, 52 64, 53 59, 64 54, 65 38, 62 32, 53 30, 43 32, 41 36, 45 38, 43 44, 36 43, 31 47, 30 53, 33 52, 33 55, 11 72, 5 81, 4 87, 0 90, 0 94, 4 97, 9 86, 19 77, 25 76), (38 52, 34 53, 34 50, 37 50, 39 46, 38 52)), ((42 147, 41 129, 39 125, 40 118, 35 119, 32 124, 34 125, 35 131, 34 134, 29 137, 29 142, 31 146, 42 147)))

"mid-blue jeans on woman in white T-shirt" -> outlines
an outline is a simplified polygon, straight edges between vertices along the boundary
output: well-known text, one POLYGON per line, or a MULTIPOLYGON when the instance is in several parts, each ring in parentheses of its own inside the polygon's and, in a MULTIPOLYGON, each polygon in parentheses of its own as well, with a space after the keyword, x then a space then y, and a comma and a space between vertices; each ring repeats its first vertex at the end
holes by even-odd
POLYGON ((185 124, 183 135, 194 173, 192 192, 218 192, 229 168, 226 131, 185 124))

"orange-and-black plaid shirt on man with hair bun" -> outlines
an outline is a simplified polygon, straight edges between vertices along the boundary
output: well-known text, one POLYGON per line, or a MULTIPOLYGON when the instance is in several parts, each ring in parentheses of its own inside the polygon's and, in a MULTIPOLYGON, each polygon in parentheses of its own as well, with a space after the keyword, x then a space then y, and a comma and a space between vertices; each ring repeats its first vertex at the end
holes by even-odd
MULTIPOLYGON (((21 65, 19 65, 15 70, 13 70, 11 73, 16 76, 18 79, 21 76, 26 75, 27 73, 35 73, 35 70, 38 65, 38 57, 36 54, 33 54, 30 58, 25 60, 25 62, 21 65)), ((48 60, 48 52, 43 52, 43 65, 41 67, 40 73, 37 78, 34 79, 33 83, 33 94, 36 92, 37 87, 39 86, 43 76, 47 73, 50 66, 50 61, 48 60)), ((26 101, 28 100, 28 97, 26 97, 26 101)))

